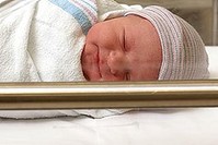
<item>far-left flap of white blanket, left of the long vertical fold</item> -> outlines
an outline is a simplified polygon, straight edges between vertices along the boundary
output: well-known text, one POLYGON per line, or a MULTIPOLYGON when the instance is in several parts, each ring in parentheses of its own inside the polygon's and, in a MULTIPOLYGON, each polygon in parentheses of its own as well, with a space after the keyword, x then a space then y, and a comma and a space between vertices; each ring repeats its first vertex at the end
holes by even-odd
POLYGON ((34 2, 4 10, 0 17, 0 80, 39 81, 27 52, 28 32, 34 14, 34 2), (25 14, 24 14, 25 13, 25 14))

